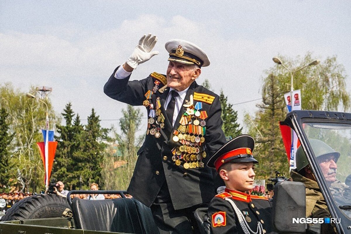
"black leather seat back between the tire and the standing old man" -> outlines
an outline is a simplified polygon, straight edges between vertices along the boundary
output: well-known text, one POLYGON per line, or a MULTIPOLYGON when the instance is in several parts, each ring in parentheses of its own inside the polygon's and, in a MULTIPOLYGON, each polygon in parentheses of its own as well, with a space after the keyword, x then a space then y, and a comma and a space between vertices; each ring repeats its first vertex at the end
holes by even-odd
POLYGON ((75 226, 84 230, 158 234, 150 208, 135 199, 72 200, 75 226))

